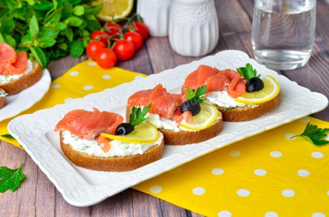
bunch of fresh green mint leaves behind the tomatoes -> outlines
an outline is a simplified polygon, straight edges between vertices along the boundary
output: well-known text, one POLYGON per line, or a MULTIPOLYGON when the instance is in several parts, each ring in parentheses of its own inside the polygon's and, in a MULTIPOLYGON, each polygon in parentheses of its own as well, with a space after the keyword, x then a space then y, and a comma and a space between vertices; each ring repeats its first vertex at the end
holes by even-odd
POLYGON ((83 54, 89 34, 101 28, 96 19, 102 5, 92 0, 0 1, 0 43, 25 50, 45 68, 49 60, 83 54))

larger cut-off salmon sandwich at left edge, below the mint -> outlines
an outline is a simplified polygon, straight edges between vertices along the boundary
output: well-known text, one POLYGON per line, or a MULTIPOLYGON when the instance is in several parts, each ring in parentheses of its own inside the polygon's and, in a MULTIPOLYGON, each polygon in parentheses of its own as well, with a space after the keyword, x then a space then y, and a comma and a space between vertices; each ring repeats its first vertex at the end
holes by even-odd
POLYGON ((0 43, 0 88, 6 93, 18 93, 40 80, 42 69, 31 61, 26 51, 18 53, 6 43, 0 43))

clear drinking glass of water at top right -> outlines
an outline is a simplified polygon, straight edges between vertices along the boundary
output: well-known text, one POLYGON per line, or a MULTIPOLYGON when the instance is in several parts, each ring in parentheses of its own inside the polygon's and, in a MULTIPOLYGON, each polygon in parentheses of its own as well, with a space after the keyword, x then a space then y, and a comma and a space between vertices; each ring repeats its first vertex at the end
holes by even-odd
POLYGON ((255 0, 252 49, 271 69, 304 66, 315 38, 316 0, 255 0))

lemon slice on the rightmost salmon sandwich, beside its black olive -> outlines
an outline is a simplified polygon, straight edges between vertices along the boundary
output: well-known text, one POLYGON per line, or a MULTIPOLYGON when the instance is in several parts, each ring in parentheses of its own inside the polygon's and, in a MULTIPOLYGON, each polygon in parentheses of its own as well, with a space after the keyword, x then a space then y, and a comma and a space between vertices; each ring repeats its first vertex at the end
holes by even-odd
POLYGON ((264 79, 264 88, 260 91, 248 93, 244 92, 241 96, 235 99, 238 103, 264 103, 272 100, 280 92, 279 83, 270 75, 267 75, 264 79))

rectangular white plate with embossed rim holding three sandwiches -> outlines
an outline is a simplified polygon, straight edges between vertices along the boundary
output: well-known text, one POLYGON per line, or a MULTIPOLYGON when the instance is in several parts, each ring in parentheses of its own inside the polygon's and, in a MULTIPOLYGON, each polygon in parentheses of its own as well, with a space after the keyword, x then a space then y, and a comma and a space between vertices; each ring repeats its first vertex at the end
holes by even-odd
POLYGON ((89 206, 196 157, 320 111, 327 104, 328 100, 324 95, 298 86, 287 77, 278 75, 277 72, 258 64, 246 53, 226 50, 175 69, 168 69, 159 74, 78 98, 66 104, 16 117, 9 123, 8 130, 69 204, 89 206), (280 104, 258 119, 240 123, 226 122, 220 134, 203 143, 166 146, 160 160, 128 172, 99 172, 77 167, 68 161, 61 151, 59 133, 54 132, 53 129, 68 111, 92 110, 96 107, 101 111, 117 112, 124 116, 127 98, 138 90, 150 89, 160 83, 169 92, 179 93, 185 77, 201 64, 219 69, 235 69, 246 63, 251 63, 262 74, 261 77, 272 75, 281 85, 280 104))

